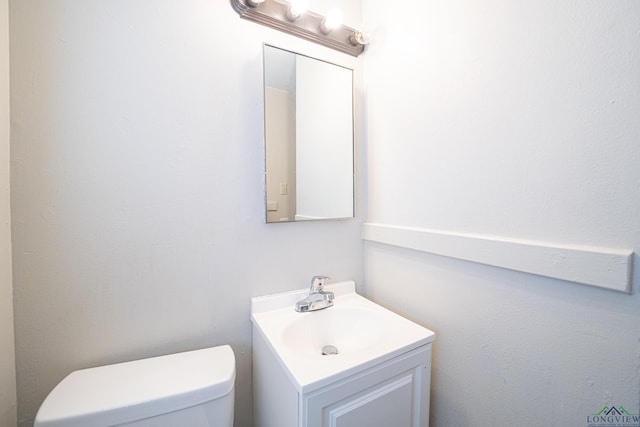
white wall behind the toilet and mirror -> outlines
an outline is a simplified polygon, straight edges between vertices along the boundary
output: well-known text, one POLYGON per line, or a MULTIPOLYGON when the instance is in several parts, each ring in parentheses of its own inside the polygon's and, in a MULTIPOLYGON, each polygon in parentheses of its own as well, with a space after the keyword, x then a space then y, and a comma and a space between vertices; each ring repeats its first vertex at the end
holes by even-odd
POLYGON ((22 424, 72 370, 229 343, 250 427, 250 297, 362 265, 359 220, 264 224, 262 43, 359 62, 228 1, 11 6, 22 424))

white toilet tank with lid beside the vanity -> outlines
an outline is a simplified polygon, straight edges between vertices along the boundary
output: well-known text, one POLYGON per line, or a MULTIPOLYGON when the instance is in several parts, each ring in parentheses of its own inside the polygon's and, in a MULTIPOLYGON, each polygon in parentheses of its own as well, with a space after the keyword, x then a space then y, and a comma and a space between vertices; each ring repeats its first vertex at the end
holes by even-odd
POLYGON ((34 427, 232 427, 228 345, 75 371, 44 400, 34 427))

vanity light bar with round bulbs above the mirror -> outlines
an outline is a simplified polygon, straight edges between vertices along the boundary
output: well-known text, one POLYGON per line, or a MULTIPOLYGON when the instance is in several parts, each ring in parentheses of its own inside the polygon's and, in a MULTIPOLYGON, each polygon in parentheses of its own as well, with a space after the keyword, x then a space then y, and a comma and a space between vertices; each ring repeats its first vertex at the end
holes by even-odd
POLYGON ((298 0, 230 0, 241 18, 358 56, 366 42, 360 31, 342 25, 342 12, 329 11, 326 17, 303 12, 298 0), (304 15, 304 16, 303 16, 304 15))

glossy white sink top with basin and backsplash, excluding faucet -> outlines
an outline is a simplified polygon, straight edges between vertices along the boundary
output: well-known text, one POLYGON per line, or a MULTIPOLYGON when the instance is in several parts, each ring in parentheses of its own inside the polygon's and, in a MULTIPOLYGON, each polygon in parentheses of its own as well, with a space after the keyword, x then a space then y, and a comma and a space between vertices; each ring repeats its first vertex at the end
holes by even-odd
POLYGON ((334 306, 298 313, 309 290, 251 299, 251 320, 299 392, 308 392, 432 342, 435 335, 355 292, 353 281, 327 285, 334 306), (338 354, 323 355, 326 345, 338 354))

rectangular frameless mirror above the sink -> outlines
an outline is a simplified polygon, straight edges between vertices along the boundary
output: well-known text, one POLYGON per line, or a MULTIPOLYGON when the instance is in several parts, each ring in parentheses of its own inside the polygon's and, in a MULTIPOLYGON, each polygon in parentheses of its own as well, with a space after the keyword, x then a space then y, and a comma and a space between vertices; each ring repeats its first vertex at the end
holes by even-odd
POLYGON ((353 218, 353 70, 264 46, 266 220, 353 218))

